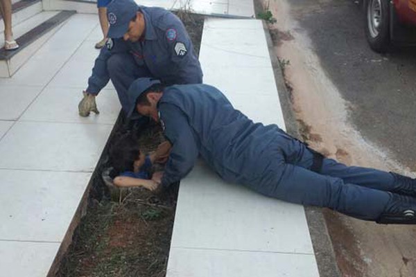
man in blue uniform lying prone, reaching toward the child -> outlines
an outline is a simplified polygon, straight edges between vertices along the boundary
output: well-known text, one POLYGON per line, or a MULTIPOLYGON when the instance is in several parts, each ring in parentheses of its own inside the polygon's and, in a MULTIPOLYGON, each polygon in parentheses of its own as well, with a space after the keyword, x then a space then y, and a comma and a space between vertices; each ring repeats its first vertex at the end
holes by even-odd
POLYGON ((140 78, 129 89, 130 115, 159 122, 172 149, 154 188, 184 178, 200 155, 229 182, 303 205, 331 208, 361 220, 416 224, 416 180, 345 166, 309 149, 277 125, 253 123, 206 84, 163 87, 140 78))

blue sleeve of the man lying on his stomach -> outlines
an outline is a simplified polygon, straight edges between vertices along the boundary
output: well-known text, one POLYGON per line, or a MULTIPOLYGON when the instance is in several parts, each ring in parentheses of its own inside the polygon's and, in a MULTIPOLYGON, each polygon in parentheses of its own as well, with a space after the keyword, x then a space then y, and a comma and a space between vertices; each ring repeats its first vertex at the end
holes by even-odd
POLYGON ((160 110, 164 134, 172 144, 171 154, 162 177, 162 187, 180 181, 192 170, 198 158, 198 146, 187 117, 173 105, 160 110))

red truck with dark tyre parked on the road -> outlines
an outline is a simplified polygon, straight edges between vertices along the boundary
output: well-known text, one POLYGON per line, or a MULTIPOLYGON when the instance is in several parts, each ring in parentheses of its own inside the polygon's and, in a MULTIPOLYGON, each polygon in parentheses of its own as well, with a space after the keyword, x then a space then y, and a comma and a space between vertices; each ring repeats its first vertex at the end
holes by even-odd
POLYGON ((416 0, 364 0, 365 35, 370 47, 385 52, 391 43, 416 44, 416 0))

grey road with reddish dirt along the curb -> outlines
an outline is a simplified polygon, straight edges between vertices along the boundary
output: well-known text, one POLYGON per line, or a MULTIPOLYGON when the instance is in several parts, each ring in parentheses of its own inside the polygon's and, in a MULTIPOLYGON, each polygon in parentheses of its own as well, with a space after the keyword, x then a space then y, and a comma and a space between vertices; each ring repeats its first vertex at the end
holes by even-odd
MULTIPOLYGON (((371 51, 363 11, 353 0, 270 3, 277 19, 270 34, 289 91, 284 95, 302 139, 349 165, 415 173, 416 48, 371 51)), ((323 214, 341 276, 416 276, 416 226, 323 214)), ((314 247, 320 244, 313 240, 314 247)), ((317 252, 321 276, 336 276, 317 252)))

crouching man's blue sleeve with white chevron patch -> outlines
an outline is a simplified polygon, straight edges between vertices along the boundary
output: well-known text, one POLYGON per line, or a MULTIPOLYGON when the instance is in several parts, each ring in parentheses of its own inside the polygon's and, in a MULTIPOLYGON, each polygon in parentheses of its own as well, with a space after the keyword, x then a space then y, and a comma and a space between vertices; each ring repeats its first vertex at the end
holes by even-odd
POLYGON ((182 21, 175 15, 168 14, 169 24, 166 28, 165 40, 171 62, 177 69, 176 84, 201 84, 202 70, 193 44, 182 21))

